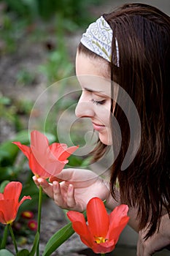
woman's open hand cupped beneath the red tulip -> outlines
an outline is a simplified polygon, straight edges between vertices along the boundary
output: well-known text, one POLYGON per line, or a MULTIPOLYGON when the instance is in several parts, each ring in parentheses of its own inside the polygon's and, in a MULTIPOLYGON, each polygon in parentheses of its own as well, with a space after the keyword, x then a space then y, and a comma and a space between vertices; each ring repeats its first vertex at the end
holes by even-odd
POLYGON ((107 183, 90 170, 64 169, 57 177, 50 178, 50 183, 36 176, 33 179, 58 206, 69 210, 85 211, 90 198, 109 197, 107 183))

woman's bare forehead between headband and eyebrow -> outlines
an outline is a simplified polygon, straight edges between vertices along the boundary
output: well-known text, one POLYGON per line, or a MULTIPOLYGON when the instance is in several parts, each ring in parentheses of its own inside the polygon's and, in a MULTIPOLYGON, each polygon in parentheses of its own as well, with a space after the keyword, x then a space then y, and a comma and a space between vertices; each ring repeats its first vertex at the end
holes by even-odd
POLYGON ((76 75, 82 89, 98 91, 110 96, 111 81, 109 76, 109 63, 101 58, 90 58, 84 53, 77 53, 76 75))

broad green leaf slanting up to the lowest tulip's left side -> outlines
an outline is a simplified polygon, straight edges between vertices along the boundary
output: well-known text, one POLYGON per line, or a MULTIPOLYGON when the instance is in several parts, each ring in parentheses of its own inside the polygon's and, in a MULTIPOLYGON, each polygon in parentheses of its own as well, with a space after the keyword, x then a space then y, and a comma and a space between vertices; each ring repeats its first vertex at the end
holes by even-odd
POLYGON ((47 242, 45 246, 45 251, 43 252, 42 256, 49 256, 53 252, 55 252, 55 249, 57 249, 63 242, 65 242, 70 236, 74 234, 74 230, 72 228, 72 223, 70 222, 61 230, 58 230, 47 242))

